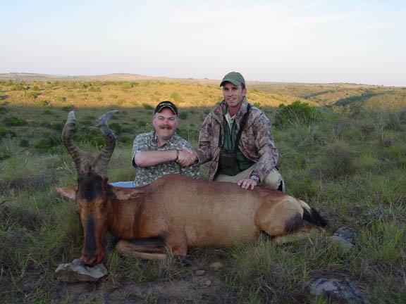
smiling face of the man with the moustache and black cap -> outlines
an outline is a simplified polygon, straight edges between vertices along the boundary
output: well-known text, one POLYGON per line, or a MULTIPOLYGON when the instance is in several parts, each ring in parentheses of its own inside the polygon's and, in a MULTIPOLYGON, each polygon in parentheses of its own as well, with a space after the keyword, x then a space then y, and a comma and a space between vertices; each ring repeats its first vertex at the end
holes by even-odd
POLYGON ((152 125, 154 125, 159 144, 164 144, 175 134, 178 118, 170 108, 163 108, 161 112, 154 115, 152 125))

